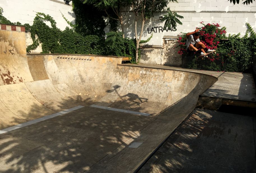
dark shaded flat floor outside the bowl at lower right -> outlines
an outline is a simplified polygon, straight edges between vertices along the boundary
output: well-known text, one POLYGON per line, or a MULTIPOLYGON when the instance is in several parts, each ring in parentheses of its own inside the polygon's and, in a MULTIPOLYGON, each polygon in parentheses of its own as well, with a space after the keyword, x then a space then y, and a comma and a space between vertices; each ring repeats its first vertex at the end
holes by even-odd
POLYGON ((195 109, 139 172, 256 172, 255 116, 195 109))

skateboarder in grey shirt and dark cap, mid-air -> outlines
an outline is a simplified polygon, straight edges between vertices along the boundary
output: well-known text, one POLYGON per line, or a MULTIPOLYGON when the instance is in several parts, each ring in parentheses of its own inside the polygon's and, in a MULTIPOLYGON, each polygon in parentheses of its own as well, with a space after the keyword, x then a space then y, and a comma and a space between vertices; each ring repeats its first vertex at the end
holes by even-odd
MULTIPOLYGON (((200 53, 200 55, 206 55, 205 53, 205 48, 206 46, 200 42, 199 40, 199 29, 196 29, 194 32, 188 32, 186 34, 187 36, 187 42, 186 42, 186 46, 187 46, 187 52, 188 53, 192 53, 192 52, 198 52, 200 53)), ((215 51, 214 49, 208 49, 206 50, 207 53, 213 52, 215 51)))

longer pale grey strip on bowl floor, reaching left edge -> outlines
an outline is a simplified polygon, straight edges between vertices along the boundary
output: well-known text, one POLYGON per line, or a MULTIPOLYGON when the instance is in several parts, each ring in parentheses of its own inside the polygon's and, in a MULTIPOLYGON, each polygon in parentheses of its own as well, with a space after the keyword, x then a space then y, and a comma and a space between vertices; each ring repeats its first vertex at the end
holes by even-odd
POLYGON ((48 120, 50 118, 53 118, 53 117, 56 117, 56 116, 59 116, 59 115, 62 115, 62 114, 69 113, 71 111, 80 109, 82 107, 84 107, 84 106, 72 107, 70 109, 67 109, 67 110, 64 110, 64 111, 61 111, 61 112, 57 112, 55 114, 51 114, 51 115, 48 115, 48 116, 43 116, 43 117, 35 119, 35 120, 27 121, 27 122, 22 123, 22 124, 18 124, 18 125, 12 126, 12 127, 4 128, 4 129, 0 130, 0 134, 6 133, 6 132, 10 132, 12 130, 16 130, 18 128, 22 128, 22 127, 25 127, 25 126, 28 126, 28 125, 31 125, 31 124, 34 124, 34 123, 38 123, 40 121, 48 120))

